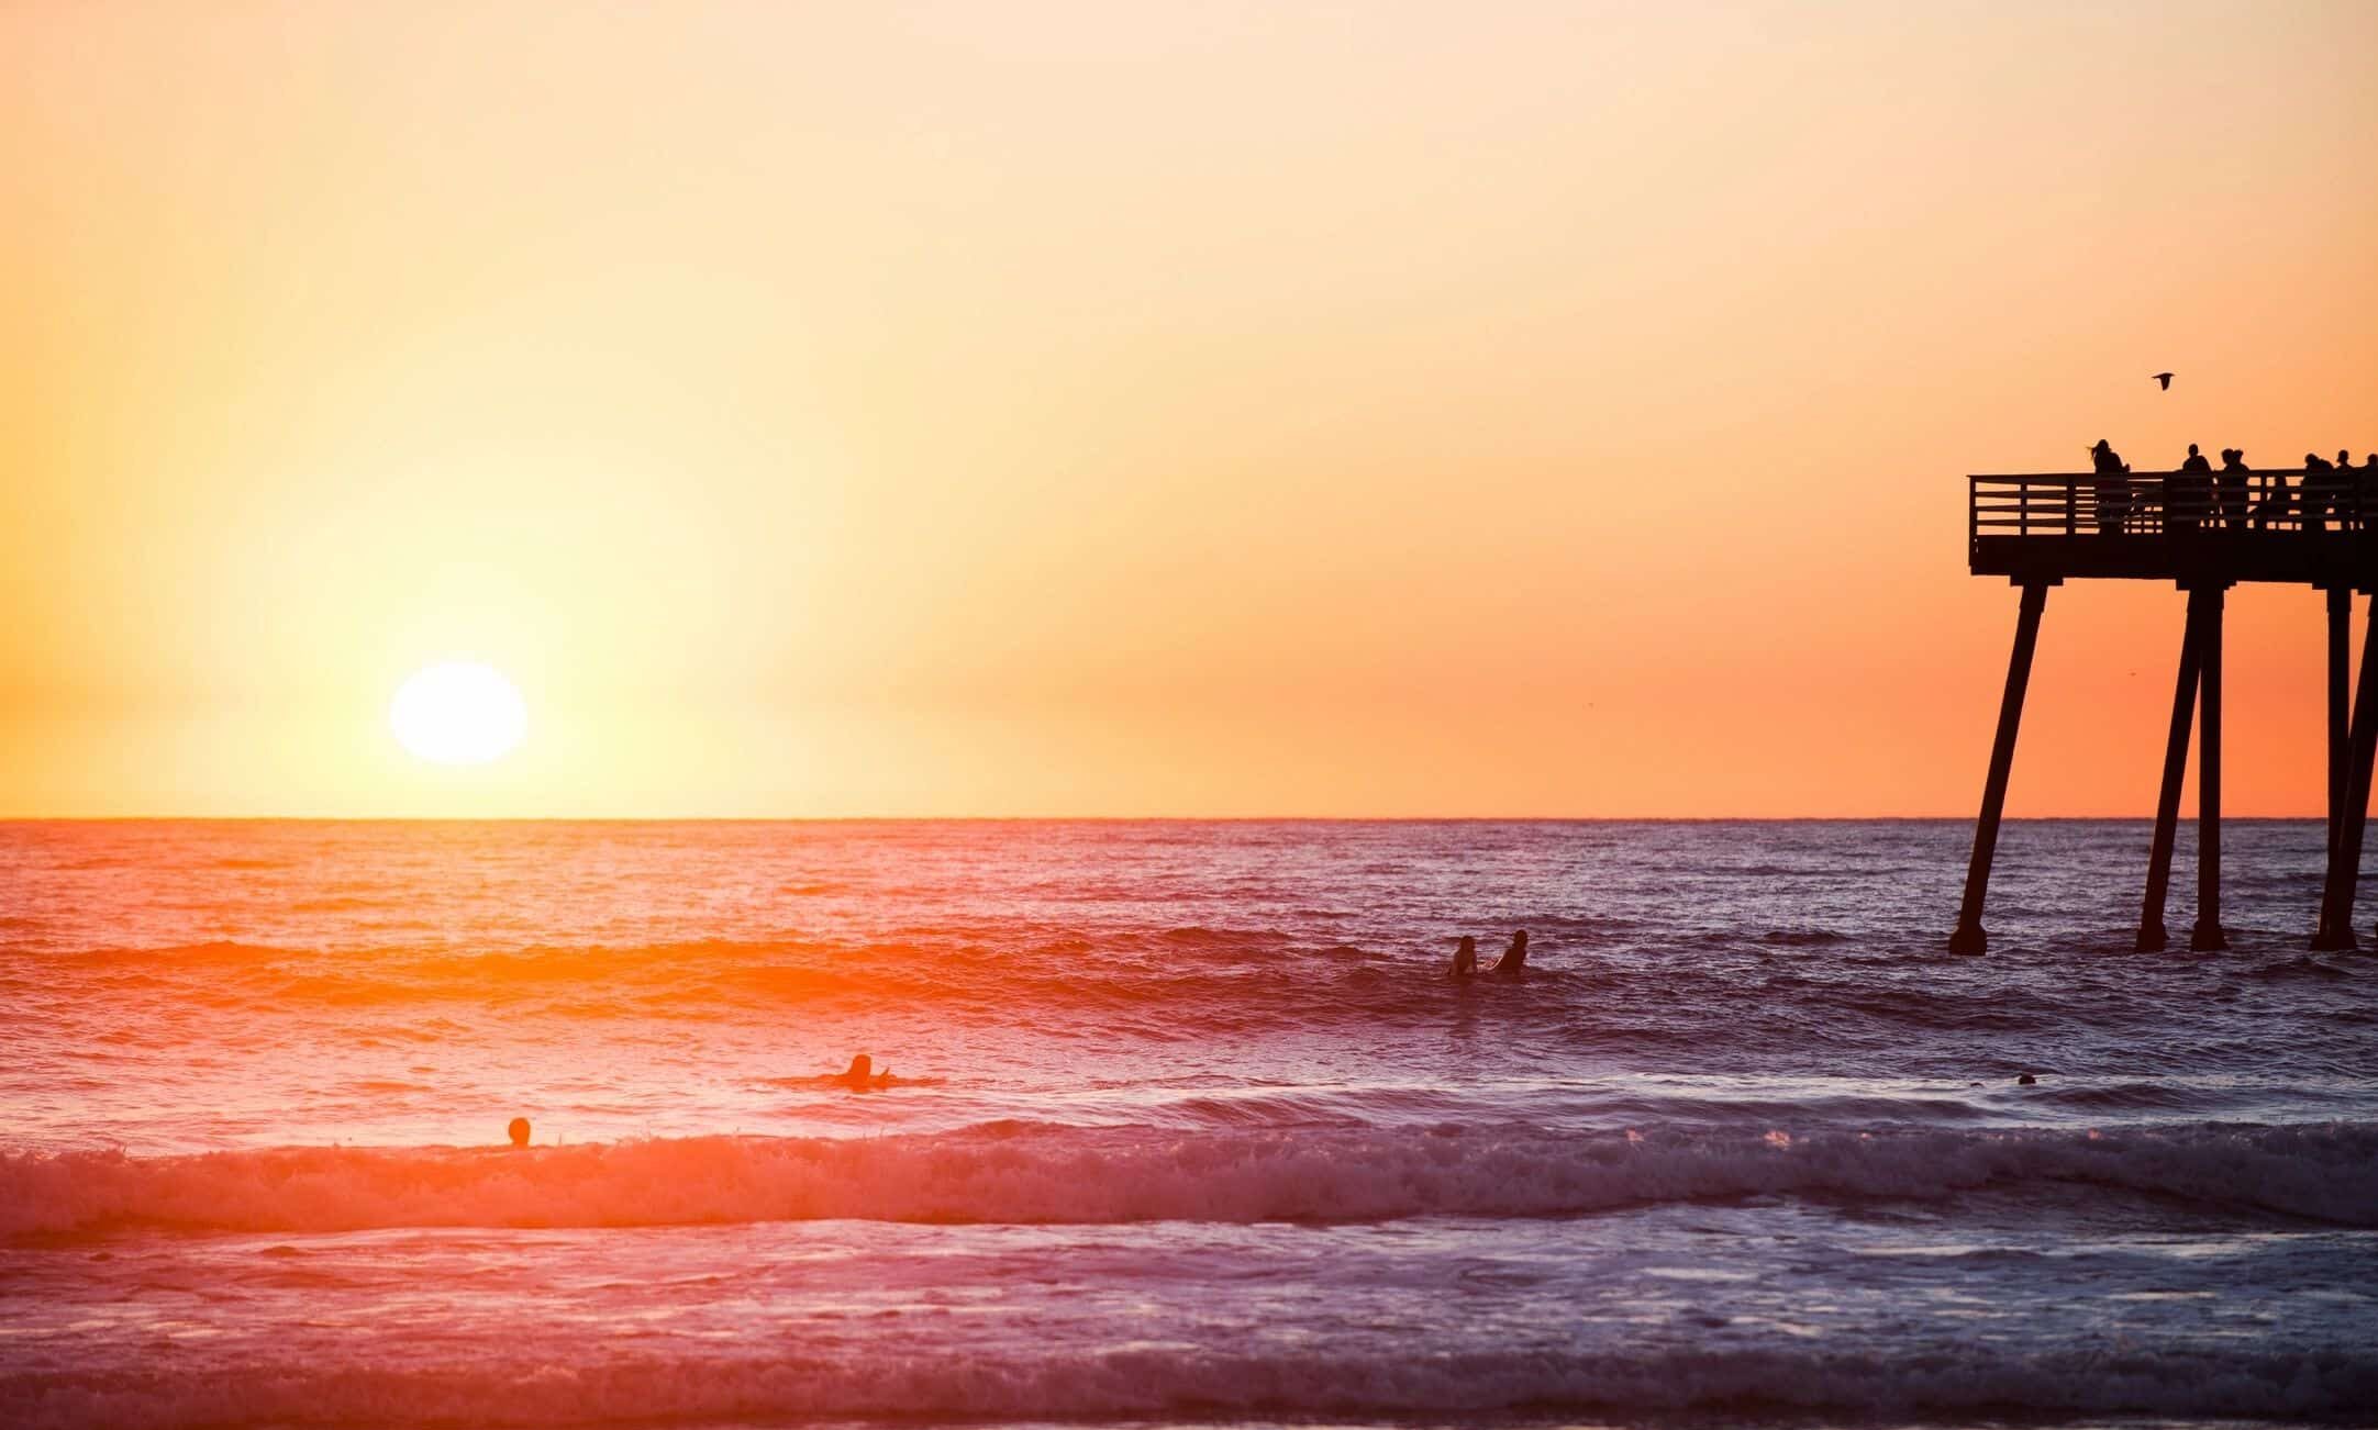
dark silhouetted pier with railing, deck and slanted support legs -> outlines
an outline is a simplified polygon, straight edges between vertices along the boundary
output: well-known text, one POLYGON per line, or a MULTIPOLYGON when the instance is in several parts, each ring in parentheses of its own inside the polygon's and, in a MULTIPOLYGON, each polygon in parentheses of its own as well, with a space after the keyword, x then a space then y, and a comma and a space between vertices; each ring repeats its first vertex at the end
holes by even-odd
MULTIPOLYGON (((2190 720, 2197 720, 2197 922, 2188 945, 2228 948, 2221 931, 2221 606, 2238 582, 2307 584, 2328 594, 2328 879, 2316 950, 2354 948, 2354 881, 2361 872, 2361 827, 2371 798, 2371 758, 2378 753, 2378 618, 2361 644, 2361 677, 2347 703, 2347 658, 2354 591, 2378 591, 2378 492, 2359 482, 2364 468, 2226 470, 2171 475, 2028 475, 1967 477, 1967 549, 1974 575, 2007 577, 2021 591, 2014 656, 1998 708, 1990 774, 1974 822, 1974 860, 1964 874, 1952 953, 1983 953, 1981 905, 1990 891, 1998 820, 2014 770, 2014 732, 2024 720, 2031 651, 2040 639, 2047 589, 2069 580, 2173 582, 2188 594, 2178 684, 2171 694, 2171 734, 2164 782, 2154 803, 2147 848, 2147 891, 2138 917, 2138 948, 2162 950, 2164 893, 2171 886, 2171 843, 2181 815, 2181 774, 2188 765, 2190 720)), ((2378 603, 2373 603, 2378 615, 2378 603)))

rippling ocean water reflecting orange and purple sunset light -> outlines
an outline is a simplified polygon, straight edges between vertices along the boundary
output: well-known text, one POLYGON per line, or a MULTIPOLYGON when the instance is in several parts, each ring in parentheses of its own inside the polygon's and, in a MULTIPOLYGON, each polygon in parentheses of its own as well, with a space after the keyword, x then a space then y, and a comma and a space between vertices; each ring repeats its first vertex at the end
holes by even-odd
POLYGON ((1967 841, 0 824, 0 1425, 2368 1423, 2321 827, 1967 841))

